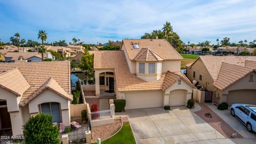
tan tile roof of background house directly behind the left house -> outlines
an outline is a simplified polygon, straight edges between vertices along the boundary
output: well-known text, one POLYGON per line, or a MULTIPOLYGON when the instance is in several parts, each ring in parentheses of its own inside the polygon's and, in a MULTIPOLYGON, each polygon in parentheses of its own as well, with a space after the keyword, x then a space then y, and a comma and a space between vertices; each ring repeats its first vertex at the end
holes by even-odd
MULTIPOLYGON (((31 57, 42 58, 42 55, 38 52, 7 52, 4 57, 12 58, 12 60, 18 60, 19 57, 22 56, 23 59, 29 59, 31 57)), ((44 54, 44 58, 46 58, 46 54, 44 54)))

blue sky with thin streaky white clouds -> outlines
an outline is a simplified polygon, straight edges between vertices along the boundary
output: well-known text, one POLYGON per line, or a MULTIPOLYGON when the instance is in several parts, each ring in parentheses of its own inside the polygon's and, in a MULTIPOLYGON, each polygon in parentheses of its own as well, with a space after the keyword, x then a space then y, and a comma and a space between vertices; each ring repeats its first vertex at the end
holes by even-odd
POLYGON ((140 38, 170 21, 183 42, 230 37, 231 42, 256 39, 256 1, 23 1, 0 0, 0 39, 20 33, 47 42, 73 37, 84 43, 140 38))

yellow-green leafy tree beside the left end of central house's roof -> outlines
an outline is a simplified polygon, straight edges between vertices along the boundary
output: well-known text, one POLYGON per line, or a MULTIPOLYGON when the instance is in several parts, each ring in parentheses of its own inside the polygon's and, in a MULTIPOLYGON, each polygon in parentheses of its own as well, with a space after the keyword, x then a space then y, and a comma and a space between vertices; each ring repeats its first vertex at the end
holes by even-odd
POLYGON ((93 72, 93 54, 90 54, 86 49, 84 50, 84 55, 81 58, 80 68, 85 70, 87 74, 93 72))

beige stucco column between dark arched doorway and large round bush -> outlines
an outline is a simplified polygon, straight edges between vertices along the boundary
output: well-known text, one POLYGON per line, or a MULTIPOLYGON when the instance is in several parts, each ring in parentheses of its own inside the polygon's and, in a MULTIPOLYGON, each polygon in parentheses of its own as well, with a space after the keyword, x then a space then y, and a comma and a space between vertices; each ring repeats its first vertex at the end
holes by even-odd
POLYGON ((10 112, 12 123, 12 134, 20 135, 22 132, 23 118, 20 111, 10 112))

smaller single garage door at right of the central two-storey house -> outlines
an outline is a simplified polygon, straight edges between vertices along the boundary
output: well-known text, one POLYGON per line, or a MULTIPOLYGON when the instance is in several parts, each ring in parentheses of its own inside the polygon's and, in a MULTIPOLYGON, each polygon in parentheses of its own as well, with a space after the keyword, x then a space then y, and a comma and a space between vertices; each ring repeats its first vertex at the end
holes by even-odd
POLYGON ((186 101, 186 90, 174 90, 170 92, 169 106, 184 106, 186 101))

